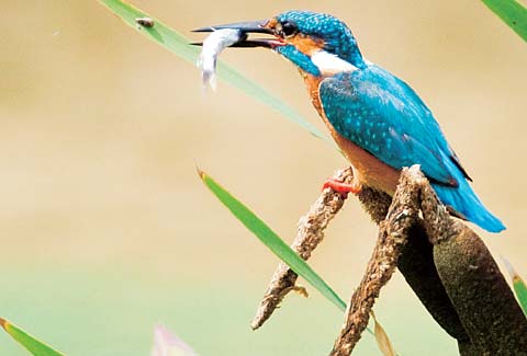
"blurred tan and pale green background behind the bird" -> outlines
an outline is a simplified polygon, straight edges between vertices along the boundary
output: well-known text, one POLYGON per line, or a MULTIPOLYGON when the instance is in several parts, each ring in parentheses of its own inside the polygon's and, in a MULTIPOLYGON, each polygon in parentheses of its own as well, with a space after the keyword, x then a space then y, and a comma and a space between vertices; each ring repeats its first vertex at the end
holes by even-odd
MULTIPOLYGON (((482 237, 527 276, 527 46, 480 1, 134 4, 183 33, 296 8, 345 20, 365 56, 430 106, 507 225, 482 237)), ((156 322, 203 355, 330 347, 341 314, 315 291, 249 330, 277 260, 194 165, 290 241, 324 179, 346 164, 335 150, 228 84, 203 95, 195 68, 97 1, 4 0, 0 30, 0 315, 71 355, 147 355, 156 322)), ((324 129, 290 64, 265 50, 222 58, 324 129)), ((345 299, 374 236, 350 199, 313 257, 345 299)), ((401 275, 377 313, 401 354, 455 354, 401 275)), ((4 335, 0 354, 25 355, 4 335)), ((375 354, 365 336, 358 355, 375 354)))

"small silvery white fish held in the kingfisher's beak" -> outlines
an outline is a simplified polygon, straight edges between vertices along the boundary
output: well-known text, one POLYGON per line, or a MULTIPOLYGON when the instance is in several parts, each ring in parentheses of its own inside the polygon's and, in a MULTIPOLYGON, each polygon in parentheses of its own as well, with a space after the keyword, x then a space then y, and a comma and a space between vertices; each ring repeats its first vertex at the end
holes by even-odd
POLYGON ((223 28, 215 30, 209 37, 203 41, 200 58, 198 59, 198 68, 201 69, 201 79, 203 87, 211 85, 216 90, 216 61, 217 56, 225 48, 238 43, 244 37, 239 30, 223 28))

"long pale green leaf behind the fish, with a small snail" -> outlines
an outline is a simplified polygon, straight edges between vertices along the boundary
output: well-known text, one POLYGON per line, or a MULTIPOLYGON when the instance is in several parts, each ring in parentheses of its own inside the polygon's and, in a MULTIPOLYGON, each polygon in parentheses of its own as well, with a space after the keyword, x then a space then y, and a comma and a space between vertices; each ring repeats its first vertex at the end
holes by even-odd
MULTIPOLYGON (((146 14, 144 11, 134 8, 121 0, 99 0, 113 13, 120 16, 127 25, 132 26, 148 39, 157 43, 158 45, 170 50, 178 57, 195 64, 200 54, 200 48, 189 45, 191 42, 189 38, 170 28, 157 19, 154 19, 146 14), (136 19, 150 18, 154 21, 154 26, 145 27, 136 23, 136 19)), ((233 87, 242 90, 249 96, 258 100, 259 102, 271 106, 279 113, 283 114, 291 122, 300 125, 302 128, 310 131, 315 137, 318 137, 329 143, 332 147, 336 147, 334 141, 318 130, 313 124, 307 122, 302 115, 294 111, 291 106, 283 101, 271 94, 269 91, 261 88, 253 80, 245 77, 243 73, 234 69, 233 67, 218 60, 217 77, 231 83, 233 87)))

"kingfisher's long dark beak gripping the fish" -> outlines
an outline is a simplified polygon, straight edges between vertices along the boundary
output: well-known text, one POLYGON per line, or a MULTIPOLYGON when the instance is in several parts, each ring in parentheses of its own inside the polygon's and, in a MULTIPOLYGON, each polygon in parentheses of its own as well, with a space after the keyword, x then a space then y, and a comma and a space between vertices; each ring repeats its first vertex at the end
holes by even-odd
MULTIPOLYGON (((225 25, 216 25, 216 26, 206 26, 193 30, 192 32, 214 32, 216 30, 238 30, 242 32, 243 39, 238 43, 232 45, 231 47, 266 47, 266 48, 274 48, 277 46, 283 45, 276 36, 270 38, 248 38, 249 34, 257 33, 257 34, 267 34, 273 35, 274 32, 267 26, 269 20, 260 20, 260 21, 247 21, 247 22, 236 22, 229 23, 225 25)), ((192 43, 192 45, 201 46, 202 43, 192 43)))

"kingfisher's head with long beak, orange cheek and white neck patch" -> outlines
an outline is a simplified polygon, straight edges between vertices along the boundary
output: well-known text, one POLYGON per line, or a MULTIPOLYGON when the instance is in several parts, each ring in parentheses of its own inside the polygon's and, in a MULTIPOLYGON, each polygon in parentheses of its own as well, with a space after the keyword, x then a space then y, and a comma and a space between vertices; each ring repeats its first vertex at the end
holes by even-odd
POLYGON ((348 26, 335 16, 288 11, 264 21, 239 22, 203 27, 208 32, 235 28, 243 34, 268 34, 268 38, 249 38, 234 47, 266 47, 291 60, 302 71, 315 77, 351 71, 365 67, 357 41, 348 26))

